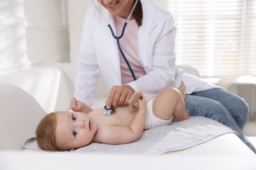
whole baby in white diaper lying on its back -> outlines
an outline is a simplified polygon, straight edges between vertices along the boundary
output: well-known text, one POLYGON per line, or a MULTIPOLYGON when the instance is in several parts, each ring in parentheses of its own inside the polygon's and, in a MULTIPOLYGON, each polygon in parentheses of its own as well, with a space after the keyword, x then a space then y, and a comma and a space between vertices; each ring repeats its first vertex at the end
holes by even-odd
POLYGON ((137 108, 117 107, 116 114, 105 116, 104 108, 85 114, 87 105, 73 98, 74 112, 52 112, 36 129, 37 143, 43 150, 74 150, 93 143, 124 144, 137 141, 145 129, 165 126, 189 118, 184 105, 185 85, 167 88, 147 102, 142 93, 137 108))

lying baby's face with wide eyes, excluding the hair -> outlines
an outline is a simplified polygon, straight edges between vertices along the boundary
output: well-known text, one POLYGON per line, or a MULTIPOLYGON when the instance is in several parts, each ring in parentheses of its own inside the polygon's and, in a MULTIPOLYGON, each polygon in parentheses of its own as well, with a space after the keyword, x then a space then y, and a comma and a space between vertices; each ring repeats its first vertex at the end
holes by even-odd
POLYGON ((85 146, 93 140, 97 126, 93 119, 83 112, 58 112, 56 144, 64 150, 85 146))

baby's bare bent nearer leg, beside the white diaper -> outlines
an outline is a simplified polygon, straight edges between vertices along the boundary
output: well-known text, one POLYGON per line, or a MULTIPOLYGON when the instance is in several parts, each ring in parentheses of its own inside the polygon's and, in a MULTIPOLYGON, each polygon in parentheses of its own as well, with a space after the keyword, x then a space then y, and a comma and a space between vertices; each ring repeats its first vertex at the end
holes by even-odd
POLYGON ((154 115, 163 120, 181 121, 189 118, 181 92, 175 88, 163 90, 153 103, 154 115))

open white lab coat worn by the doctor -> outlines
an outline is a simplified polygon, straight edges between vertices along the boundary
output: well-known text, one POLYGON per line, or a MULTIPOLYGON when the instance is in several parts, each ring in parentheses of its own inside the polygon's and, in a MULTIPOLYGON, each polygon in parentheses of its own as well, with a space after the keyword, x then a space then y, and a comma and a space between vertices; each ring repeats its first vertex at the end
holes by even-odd
MULTIPOLYGON (((213 88, 213 85, 175 69, 176 28, 173 16, 146 0, 140 1, 143 20, 138 33, 139 61, 146 75, 130 82, 129 86, 135 91, 145 92, 148 99, 158 95, 164 88, 177 88, 181 80, 186 83, 186 93, 213 88)), ((101 5, 98 5, 98 9, 116 33, 113 16, 101 5)), ((81 38, 75 97, 91 106, 100 73, 108 88, 121 85, 119 62, 116 39, 95 7, 89 7, 81 38)))

